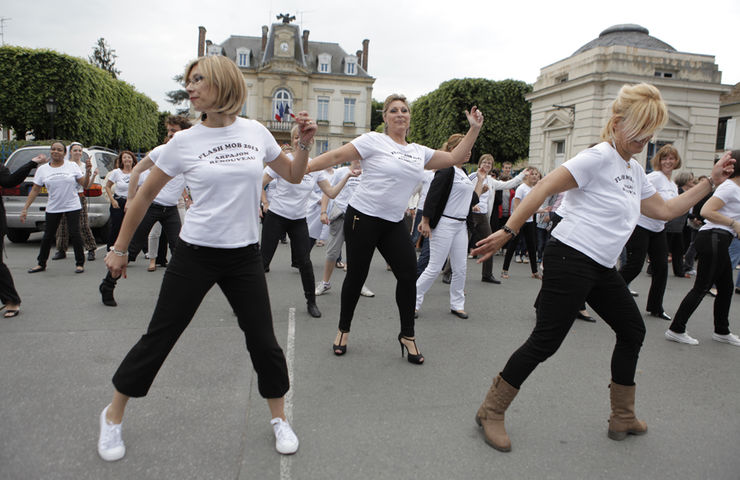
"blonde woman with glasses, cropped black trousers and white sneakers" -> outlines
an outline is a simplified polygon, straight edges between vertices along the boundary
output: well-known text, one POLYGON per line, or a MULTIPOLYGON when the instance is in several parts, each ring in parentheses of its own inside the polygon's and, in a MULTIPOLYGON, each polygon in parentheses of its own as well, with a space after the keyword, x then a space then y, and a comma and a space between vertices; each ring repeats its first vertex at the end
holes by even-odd
POLYGON ((291 161, 262 124, 237 117, 246 101, 246 86, 232 60, 201 57, 187 67, 184 78, 190 103, 202 112, 203 121, 176 133, 162 148, 157 164, 129 203, 118 238, 105 258, 111 275, 125 277, 129 242, 167 182, 182 174, 195 203, 185 216, 147 333, 113 376, 113 399, 99 417, 98 454, 107 461, 124 456, 121 422, 129 398, 147 394, 214 284, 221 288, 244 331, 259 392, 270 409, 275 448, 281 454, 292 454, 298 450, 298 438, 285 419, 284 396, 290 385, 285 356, 272 326, 257 210, 264 164, 288 181, 300 182, 316 126, 305 112, 298 114, 300 149, 291 161))

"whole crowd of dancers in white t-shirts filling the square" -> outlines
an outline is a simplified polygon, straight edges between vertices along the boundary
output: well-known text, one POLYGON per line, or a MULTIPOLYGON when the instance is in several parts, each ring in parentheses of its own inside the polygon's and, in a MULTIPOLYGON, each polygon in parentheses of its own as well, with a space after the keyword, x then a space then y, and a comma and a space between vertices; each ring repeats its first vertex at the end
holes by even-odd
MULTIPOLYGON (((383 256, 396 278, 401 354, 415 365, 425 360, 417 344, 415 318, 437 276, 447 269, 450 313, 467 318, 467 257, 482 263, 483 282, 499 284, 492 255, 506 248, 501 274, 505 280, 514 255, 523 255, 517 253, 520 240, 526 244, 531 275, 541 281, 536 325, 495 375, 475 415, 485 441, 500 451, 511 449, 504 427, 509 404, 529 374, 558 350, 576 318, 594 321, 586 304, 616 334, 608 436, 621 440, 647 432, 646 423, 635 414, 634 383, 645 325, 628 284, 648 256, 653 278, 646 309, 671 320, 663 307, 668 274, 666 222, 682 216, 684 224, 693 221, 696 217, 687 219, 688 212, 701 201, 698 214, 704 223, 693 241, 698 259, 694 286, 665 336, 697 344, 686 332, 686 324, 715 287, 712 338, 740 346, 729 328, 732 277, 738 262, 730 251, 740 234, 740 168, 735 163, 740 152, 727 152, 709 176, 685 181, 682 192, 672 182, 681 159, 670 146, 653 158, 654 171, 646 175, 633 157, 668 118, 660 92, 651 85, 625 85, 620 90, 600 143, 547 175, 526 168, 511 177, 511 165, 495 171, 491 155, 483 155, 474 172, 463 169, 484 123, 483 112, 474 106, 465 112, 468 131, 453 134, 435 150, 407 141, 409 104, 405 97, 391 95, 383 105, 383 133, 363 134, 310 159, 317 128, 305 112, 296 116, 291 145, 285 148, 259 122, 238 117, 246 87, 231 60, 199 58, 187 67, 185 79, 191 104, 201 112, 200 122, 191 127, 183 119, 168 120, 167 141, 138 163, 133 154, 123 152, 106 182, 111 208, 117 212, 112 216, 114 233, 105 257, 108 272, 100 285, 103 303, 116 305, 118 281, 143 249, 147 248, 154 269, 151 258, 165 260, 158 253, 158 235, 166 238, 172 255, 149 327, 115 372, 111 401, 100 413, 98 453, 104 460, 125 455, 121 427, 129 399, 147 394, 214 284, 223 291, 244 332, 259 392, 270 410, 277 451, 298 450, 298 437, 284 412, 290 385, 285 356, 275 339, 265 275, 286 233, 310 316, 322 315, 317 296, 330 289, 340 262, 346 264, 331 347, 336 356, 349 352, 359 298, 374 295, 365 281, 375 250, 383 256), (342 166, 332 169, 337 165, 342 166), (414 196, 419 199, 413 205, 415 219, 408 216, 409 199, 414 196), (152 233, 157 224, 159 231, 152 233), (322 238, 322 228, 327 230, 326 254, 323 276, 316 282, 311 250, 322 238), (345 256, 340 260, 343 244, 345 256), (625 246, 626 258, 620 262, 625 246)), ((69 162, 64 160, 65 150, 63 143, 55 142, 51 161, 39 156, 16 172, 0 169, 0 184, 9 186, 38 166, 34 191, 41 186, 49 191, 46 231, 38 265, 31 273, 46 268, 62 219, 74 246, 76 271, 84 271, 85 249, 92 250, 80 233, 85 230, 82 217, 86 215, 78 190, 94 175, 89 162, 80 164, 77 145, 70 150, 69 162)), ((26 209, 34 197, 32 191, 26 209)), ((737 250, 733 255, 740 256, 737 250)), ((681 263, 683 249, 672 251, 679 252, 681 263)), ((17 315, 20 298, 10 272, 1 265, 5 315, 17 315)), ((687 273, 678 270, 681 275, 687 273)))

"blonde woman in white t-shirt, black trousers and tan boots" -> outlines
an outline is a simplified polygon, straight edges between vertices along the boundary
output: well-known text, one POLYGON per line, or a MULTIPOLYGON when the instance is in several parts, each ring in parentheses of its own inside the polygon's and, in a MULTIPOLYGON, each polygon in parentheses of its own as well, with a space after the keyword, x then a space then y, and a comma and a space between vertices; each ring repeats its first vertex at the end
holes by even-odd
MULTIPOLYGON (((677 217, 711 191, 712 181, 721 183, 733 169, 729 157, 723 158, 712 170, 712 181, 703 181, 665 201, 632 158, 668 120, 660 92, 645 83, 625 85, 611 113, 601 134, 602 143, 580 152, 543 178, 503 230, 478 242, 473 251, 483 255, 479 262, 485 260, 516 236, 548 196, 568 191, 564 201, 567 215, 545 247, 535 328, 496 376, 475 417, 483 427, 486 442, 497 450, 511 449, 504 412, 537 365, 560 348, 584 301, 616 333, 611 359, 609 438, 622 440, 628 434, 647 432, 647 425, 636 418, 634 408, 634 377, 645 324, 614 265, 641 212, 661 220, 677 217)), ((566 378, 558 380, 567 382, 566 378)), ((558 401, 563 403, 562 399, 558 401)))

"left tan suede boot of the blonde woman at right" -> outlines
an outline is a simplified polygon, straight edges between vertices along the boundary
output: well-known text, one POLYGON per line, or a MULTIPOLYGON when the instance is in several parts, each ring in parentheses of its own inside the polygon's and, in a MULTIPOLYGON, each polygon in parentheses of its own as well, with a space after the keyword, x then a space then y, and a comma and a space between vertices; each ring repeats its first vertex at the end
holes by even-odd
POLYGON ((501 452, 511 450, 511 440, 504 428, 504 412, 517 393, 518 388, 512 387, 501 375, 497 375, 475 415, 475 422, 483 427, 486 443, 501 452))

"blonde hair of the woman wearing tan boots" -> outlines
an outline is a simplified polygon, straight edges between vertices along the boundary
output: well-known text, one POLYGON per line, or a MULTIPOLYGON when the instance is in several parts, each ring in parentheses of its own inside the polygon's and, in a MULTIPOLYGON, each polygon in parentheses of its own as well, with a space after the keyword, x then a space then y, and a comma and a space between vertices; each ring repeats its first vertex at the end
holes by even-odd
POLYGON ((612 116, 601 131, 605 142, 614 140, 617 122, 622 122, 624 135, 635 140, 640 136, 652 136, 668 121, 668 109, 660 91, 648 83, 624 85, 611 105, 612 116))

